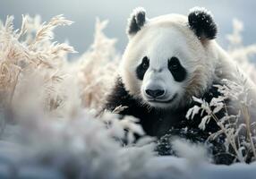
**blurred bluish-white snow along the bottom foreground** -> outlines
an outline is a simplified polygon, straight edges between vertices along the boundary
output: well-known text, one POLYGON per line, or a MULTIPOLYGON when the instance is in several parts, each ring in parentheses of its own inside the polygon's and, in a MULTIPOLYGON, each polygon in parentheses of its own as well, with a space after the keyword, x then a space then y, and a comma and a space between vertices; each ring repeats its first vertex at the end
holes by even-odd
MULTIPOLYGON (((69 140, 73 141, 73 138, 70 138, 69 140)), ((90 141, 91 139, 88 138, 86 140, 90 141)), ((48 143, 48 145, 53 146, 51 143, 48 143)), ((173 179, 255 178, 255 162, 250 165, 243 163, 237 163, 231 166, 213 165, 208 161, 201 159, 204 158, 201 156, 204 151, 203 149, 200 149, 200 147, 192 145, 191 143, 186 143, 184 141, 176 141, 175 145, 178 146, 176 147, 177 149, 182 151, 180 155, 182 155, 183 158, 176 158, 171 156, 158 157, 155 155, 147 154, 147 150, 149 151, 149 148, 147 149, 141 147, 121 149, 121 153, 119 153, 118 150, 113 148, 113 146, 108 146, 108 149, 105 148, 102 151, 99 149, 99 152, 102 152, 104 155, 97 157, 98 149, 94 148, 95 146, 87 146, 85 149, 82 149, 85 152, 84 155, 79 157, 79 159, 76 158, 76 160, 73 160, 73 158, 70 158, 73 156, 71 153, 77 153, 77 150, 68 151, 66 149, 61 149, 62 147, 66 148, 68 146, 59 146, 59 148, 56 149, 59 150, 59 154, 55 153, 55 149, 51 149, 52 147, 49 147, 48 149, 50 150, 47 151, 47 155, 44 154, 46 152, 44 149, 39 149, 40 151, 36 152, 38 154, 31 155, 30 152, 32 150, 28 149, 31 148, 30 145, 28 146, 28 143, 23 146, 22 144, 17 145, 13 142, 1 141, 0 177, 61 179, 67 176, 66 171, 61 168, 61 163, 67 162, 66 164, 69 164, 69 162, 72 162, 72 166, 70 167, 76 170, 79 169, 79 165, 81 165, 81 169, 83 170, 81 175, 86 178, 124 178, 124 176, 125 178, 173 179), (90 156, 88 156, 87 153, 90 154, 90 156), (53 161, 53 163, 49 163, 50 165, 45 165, 43 160, 45 158, 47 162, 48 155, 52 156, 53 160, 55 161, 53 161), (81 158, 90 158, 90 160, 88 160, 87 164, 85 165, 84 162, 86 162, 86 160, 82 162, 81 158), (107 158, 111 159, 112 161, 109 160, 107 162, 107 158), (120 163, 120 161, 122 162, 120 163), (89 169, 89 173, 83 174, 84 172, 88 172, 89 169)), ((77 145, 73 143, 73 147, 76 149, 77 145)), ((67 168, 65 168, 65 170, 66 169, 67 168)), ((70 171, 70 175, 73 175, 72 170, 70 171)))

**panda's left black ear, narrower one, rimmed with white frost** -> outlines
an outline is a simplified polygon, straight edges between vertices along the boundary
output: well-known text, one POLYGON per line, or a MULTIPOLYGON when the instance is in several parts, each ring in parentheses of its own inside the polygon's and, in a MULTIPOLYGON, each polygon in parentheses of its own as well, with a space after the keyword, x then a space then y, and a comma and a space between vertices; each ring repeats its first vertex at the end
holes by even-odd
POLYGON ((142 7, 137 7, 133 10, 130 19, 128 20, 127 34, 132 36, 136 34, 144 26, 146 22, 146 11, 142 7))

